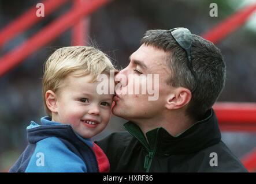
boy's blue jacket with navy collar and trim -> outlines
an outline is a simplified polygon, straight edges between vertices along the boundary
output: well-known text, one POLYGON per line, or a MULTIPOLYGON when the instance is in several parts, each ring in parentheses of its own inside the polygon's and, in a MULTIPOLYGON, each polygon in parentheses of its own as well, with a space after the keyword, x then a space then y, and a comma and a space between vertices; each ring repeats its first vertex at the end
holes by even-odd
POLYGON ((28 146, 10 172, 99 172, 94 144, 75 133, 71 125, 41 118, 27 127, 28 146))

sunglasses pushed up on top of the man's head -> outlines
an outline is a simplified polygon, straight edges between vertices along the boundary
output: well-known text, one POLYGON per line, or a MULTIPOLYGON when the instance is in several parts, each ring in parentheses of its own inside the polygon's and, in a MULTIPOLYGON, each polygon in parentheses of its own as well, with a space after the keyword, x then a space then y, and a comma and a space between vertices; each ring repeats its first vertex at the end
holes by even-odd
POLYGON ((191 34, 190 30, 188 30, 187 28, 170 29, 170 34, 172 34, 173 39, 175 39, 177 44, 179 44, 180 47, 183 48, 185 50, 185 52, 187 53, 187 58, 188 58, 187 66, 195 78, 195 86, 191 91, 191 93, 194 93, 194 91, 196 90, 198 81, 197 81, 195 72, 192 69, 192 62, 191 62, 192 34, 191 34))

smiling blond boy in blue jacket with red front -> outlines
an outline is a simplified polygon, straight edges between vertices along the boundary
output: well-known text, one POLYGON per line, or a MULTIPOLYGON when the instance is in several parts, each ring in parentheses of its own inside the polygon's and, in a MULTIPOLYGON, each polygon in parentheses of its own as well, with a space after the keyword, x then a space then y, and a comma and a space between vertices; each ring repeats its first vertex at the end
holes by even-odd
POLYGON ((97 76, 110 70, 108 57, 93 47, 64 47, 49 57, 43 75, 49 116, 27 127, 29 144, 10 172, 109 171, 106 155, 90 138, 110 119, 113 95, 97 93, 97 76))

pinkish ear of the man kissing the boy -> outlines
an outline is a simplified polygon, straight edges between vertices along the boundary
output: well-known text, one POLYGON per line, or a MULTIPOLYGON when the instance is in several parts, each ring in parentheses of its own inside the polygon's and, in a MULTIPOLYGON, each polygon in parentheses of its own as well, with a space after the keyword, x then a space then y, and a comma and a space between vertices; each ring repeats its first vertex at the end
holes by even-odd
POLYGON ((177 87, 168 95, 165 107, 169 110, 180 109, 190 102, 191 97, 192 94, 190 90, 184 87, 177 87))

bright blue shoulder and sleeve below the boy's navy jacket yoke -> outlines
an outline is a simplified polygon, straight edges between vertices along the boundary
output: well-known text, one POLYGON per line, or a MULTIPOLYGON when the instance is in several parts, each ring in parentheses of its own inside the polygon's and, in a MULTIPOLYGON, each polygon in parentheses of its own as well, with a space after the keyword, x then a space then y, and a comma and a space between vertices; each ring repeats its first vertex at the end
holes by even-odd
POLYGON ((86 164, 57 137, 29 144, 10 172, 86 172, 86 164))

